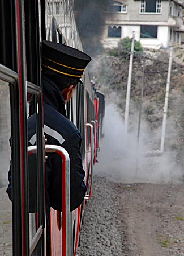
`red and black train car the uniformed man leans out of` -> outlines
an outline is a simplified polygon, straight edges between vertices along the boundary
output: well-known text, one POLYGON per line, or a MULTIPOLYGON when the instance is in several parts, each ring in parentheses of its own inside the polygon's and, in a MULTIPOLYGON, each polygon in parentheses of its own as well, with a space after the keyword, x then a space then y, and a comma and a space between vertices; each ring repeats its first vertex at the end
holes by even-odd
MULTIPOLYGON (((82 158, 86 172, 85 184, 88 188, 83 204, 74 212, 70 212, 69 156, 63 148, 50 146, 44 139, 41 42, 52 40, 82 50, 72 5, 72 0, 2 0, 0 3, 0 91, 6 92, 4 103, 10 101, 10 112, 6 117, 9 123, 11 119, 14 256, 75 256, 85 200, 91 197, 93 164, 102 122, 95 113, 96 96, 88 71, 83 75, 83 85, 77 86, 72 100, 66 106, 68 118, 82 134, 82 158), (34 98, 36 106, 37 145, 28 147, 27 119, 30 97, 34 98), (63 211, 61 213, 51 210, 50 242, 49 247, 46 247, 44 163, 46 154, 51 152, 59 154, 62 158, 63 211), (32 154, 36 155, 37 159, 35 212, 29 207, 31 197, 28 163, 32 154)), ((7 137, 4 139, 8 141, 7 137)))

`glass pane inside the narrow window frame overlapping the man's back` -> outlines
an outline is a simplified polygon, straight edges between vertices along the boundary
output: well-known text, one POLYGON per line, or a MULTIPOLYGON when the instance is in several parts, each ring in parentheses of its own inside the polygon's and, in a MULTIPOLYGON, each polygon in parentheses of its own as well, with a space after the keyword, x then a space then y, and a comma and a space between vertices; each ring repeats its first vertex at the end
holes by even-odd
MULTIPOLYGON (((40 143, 37 142, 37 119, 36 113, 39 112, 37 97, 35 94, 27 94, 27 123, 28 123, 28 151, 31 146, 37 145, 37 152, 33 154, 28 153, 28 205, 29 205, 29 243, 32 242, 39 228, 38 219, 40 218, 40 210, 38 205, 41 205, 41 192, 43 191, 42 184, 38 178, 40 175, 37 161, 40 163, 38 155, 38 147, 40 143), (31 117, 31 118, 29 118, 31 117), (30 129, 31 127, 31 129, 30 129)), ((42 171, 41 171, 42 172, 42 171)), ((41 255, 41 247, 37 246, 34 255, 41 255), (36 254, 37 252, 37 254, 36 254)))

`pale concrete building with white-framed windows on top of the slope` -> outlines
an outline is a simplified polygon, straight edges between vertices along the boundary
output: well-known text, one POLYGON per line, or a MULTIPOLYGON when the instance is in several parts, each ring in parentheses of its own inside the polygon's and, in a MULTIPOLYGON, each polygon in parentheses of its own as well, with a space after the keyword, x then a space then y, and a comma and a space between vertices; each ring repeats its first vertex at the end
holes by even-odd
POLYGON ((143 47, 181 44, 183 8, 179 0, 112 1, 105 9, 101 42, 105 48, 116 47, 119 39, 131 38, 134 31, 143 47))

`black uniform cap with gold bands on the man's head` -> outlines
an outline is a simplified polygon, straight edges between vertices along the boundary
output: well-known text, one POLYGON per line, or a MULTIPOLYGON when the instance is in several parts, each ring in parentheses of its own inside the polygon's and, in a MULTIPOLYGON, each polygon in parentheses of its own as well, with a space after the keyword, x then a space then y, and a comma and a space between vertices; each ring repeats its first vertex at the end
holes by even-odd
POLYGON ((57 75, 81 79, 90 61, 91 57, 78 49, 50 41, 42 42, 43 68, 57 75))

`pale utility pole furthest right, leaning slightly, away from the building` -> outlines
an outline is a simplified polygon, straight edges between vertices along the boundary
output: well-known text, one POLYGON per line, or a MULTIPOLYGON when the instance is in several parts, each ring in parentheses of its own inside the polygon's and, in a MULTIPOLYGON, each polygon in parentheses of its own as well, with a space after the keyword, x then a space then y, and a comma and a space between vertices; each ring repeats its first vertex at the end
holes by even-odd
POLYGON ((170 47, 168 77, 167 77, 167 83, 166 83, 165 104, 164 104, 164 114, 163 114, 161 144, 160 144, 160 152, 161 153, 164 152, 166 117, 167 117, 167 112, 168 112, 168 100, 169 100, 170 74, 171 74, 171 68, 172 68, 172 54, 173 54, 173 47, 170 47))

